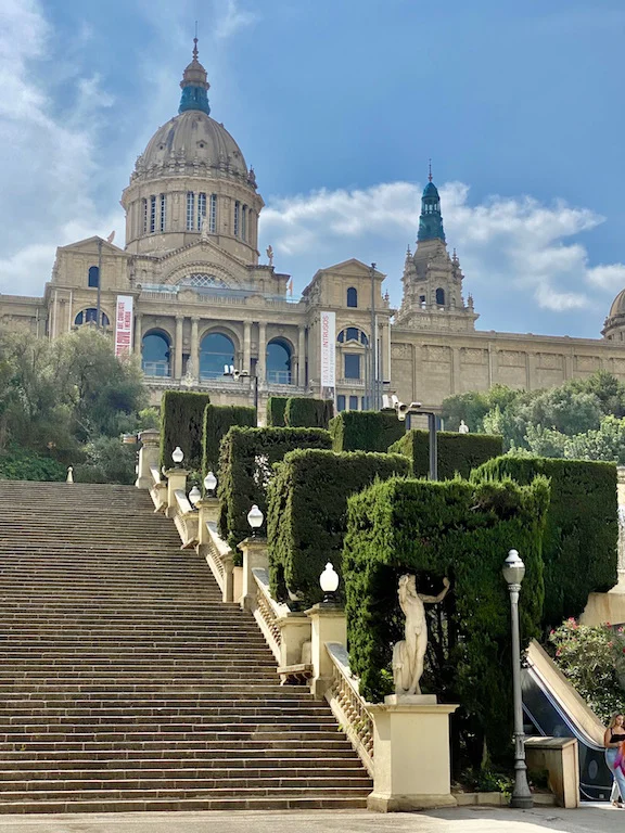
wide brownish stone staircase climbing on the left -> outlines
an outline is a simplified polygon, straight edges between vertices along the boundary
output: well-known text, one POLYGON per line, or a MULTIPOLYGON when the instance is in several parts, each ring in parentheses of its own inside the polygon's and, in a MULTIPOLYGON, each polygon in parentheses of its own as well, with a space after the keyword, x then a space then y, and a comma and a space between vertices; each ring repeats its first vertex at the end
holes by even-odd
POLYGON ((326 703, 280 687, 145 492, 0 482, 0 812, 365 807, 326 703))

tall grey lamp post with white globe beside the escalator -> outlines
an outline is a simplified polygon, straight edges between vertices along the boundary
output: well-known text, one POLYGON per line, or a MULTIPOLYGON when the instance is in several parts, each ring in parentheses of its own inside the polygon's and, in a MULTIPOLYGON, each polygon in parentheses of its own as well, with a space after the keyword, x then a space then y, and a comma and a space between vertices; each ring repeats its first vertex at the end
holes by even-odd
POLYGON ((525 575, 525 565, 516 550, 510 550, 503 564, 503 578, 510 591, 512 618, 512 689, 514 695, 514 789, 510 806, 532 809, 534 799, 527 783, 525 765, 525 733, 523 732, 523 704, 521 700, 521 640, 519 637, 519 593, 525 575))

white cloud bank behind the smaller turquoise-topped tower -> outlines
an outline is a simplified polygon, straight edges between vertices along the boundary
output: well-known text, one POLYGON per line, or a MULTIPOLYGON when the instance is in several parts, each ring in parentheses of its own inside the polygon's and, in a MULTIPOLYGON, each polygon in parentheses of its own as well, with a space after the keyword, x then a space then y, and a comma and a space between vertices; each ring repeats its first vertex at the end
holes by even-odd
MULTIPOLYGON (((496 282, 519 296, 530 293, 543 309, 562 312, 594 307, 589 289, 595 296, 597 289, 613 293, 625 285, 624 265, 590 266, 585 246, 574 240, 603 221, 590 209, 561 200, 546 205, 531 196, 490 196, 472 205, 462 182, 439 191, 447 240, 458 247, 465 289, 496 282)), ((358 256, 355 249, 363 245, 370 251, 371 240, 381 254, 390 244, 403 252, 416 236, 420 198, 421 187, 409 182, 273 198, 263 213, 263 235, 285 259, 307 259, 314 252, 318 266, 327 265, 327 256, 358 256)), ((398 278, 392 275, 395 293, 398 278)))

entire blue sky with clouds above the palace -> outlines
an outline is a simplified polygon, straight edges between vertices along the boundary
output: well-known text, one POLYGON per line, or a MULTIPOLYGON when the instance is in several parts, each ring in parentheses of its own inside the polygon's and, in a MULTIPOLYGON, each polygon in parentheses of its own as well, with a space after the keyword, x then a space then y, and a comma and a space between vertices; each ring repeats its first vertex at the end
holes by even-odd
POLYGON ((3 0, 0 292, 40 294, 56 245, 123 244, 195 20, 295 292, 357 257, 398 304, 432 157, 479 328, 599 335, 625 286, 622 0, 3 0))

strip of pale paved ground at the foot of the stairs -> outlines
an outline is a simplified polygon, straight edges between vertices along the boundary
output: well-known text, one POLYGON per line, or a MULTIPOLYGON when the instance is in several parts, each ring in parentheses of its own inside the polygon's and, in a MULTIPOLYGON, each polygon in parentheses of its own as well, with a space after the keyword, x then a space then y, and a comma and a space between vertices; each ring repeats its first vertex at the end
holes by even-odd
POLYGON ((145 812, 0 816, 0 833, 622 833, 625 810, 463 808, 418 813, 145 812))

